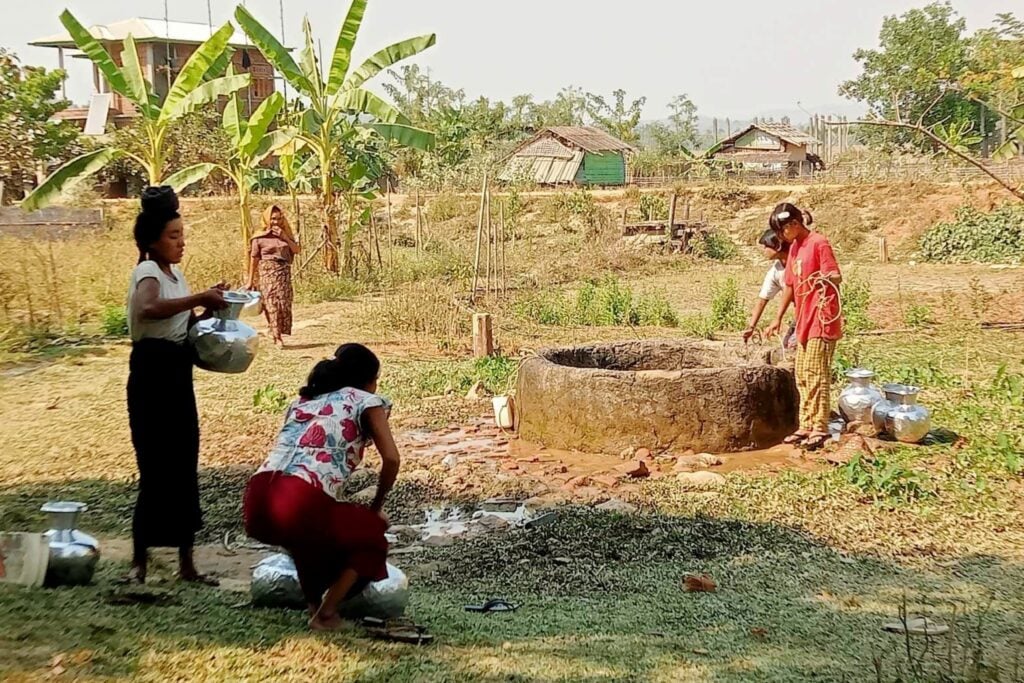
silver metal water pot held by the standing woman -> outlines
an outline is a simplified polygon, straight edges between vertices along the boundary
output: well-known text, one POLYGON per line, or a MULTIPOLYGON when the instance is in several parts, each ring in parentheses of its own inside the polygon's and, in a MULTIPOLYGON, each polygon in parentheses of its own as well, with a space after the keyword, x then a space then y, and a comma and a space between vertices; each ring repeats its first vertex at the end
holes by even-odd
POLYGON ((200 321, 188 331, 188 341, 196 349, 196 365, 214 373, 244 373, 256 358, 259 335, 239 322, 246 306, 259 300, 257 292, 224 292, 227 307, 214 316, 200 321))

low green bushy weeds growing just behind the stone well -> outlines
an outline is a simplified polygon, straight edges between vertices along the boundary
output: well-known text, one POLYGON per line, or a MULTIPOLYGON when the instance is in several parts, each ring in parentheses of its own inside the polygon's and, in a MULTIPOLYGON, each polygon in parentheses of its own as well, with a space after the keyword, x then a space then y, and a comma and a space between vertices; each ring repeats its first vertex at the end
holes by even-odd
POLYGON ((679 324, 672 304, 663 295, 636 295, 612 275, 584 284, 575 297, 541 295, 521 301, 516 308, 521 317, 540 325, 675 327, 679 324))

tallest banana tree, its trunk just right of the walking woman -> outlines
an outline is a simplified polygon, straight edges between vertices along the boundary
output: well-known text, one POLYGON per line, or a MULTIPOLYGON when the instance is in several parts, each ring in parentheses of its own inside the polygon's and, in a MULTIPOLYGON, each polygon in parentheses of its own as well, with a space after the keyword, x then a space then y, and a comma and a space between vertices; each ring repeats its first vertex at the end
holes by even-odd
MULTIPOLYGON (((339 179, 347 180, 352 170, 343 150, 345 136, 352 125, 365 126, 378 135, 399 144, 428 150, 433 134, 414 128, 392 104, 362 86, 380 72, 398 61, 416 55, 436 42, 433 34, 410 38, 376 52, 354 71, 350 70, 352 49, 368 0, 352 0, 338 34, 334 54, 325 78, 317 60, 312 30, 308 18, 303 22, 305 47, 296 62, 287 49, 244 6, 234 11, 234 18, 263 55, 282 76, 308 99, 299 125, 299 137, 316 158, 321 179, 318 185, 321 219, 324 230, 324 264, 338 272, 338 208, 344 189, 339 179), (365 122, 364 119, 370 121, 365 122)), ((346 254, 346 268, 352 262, 346 254)))

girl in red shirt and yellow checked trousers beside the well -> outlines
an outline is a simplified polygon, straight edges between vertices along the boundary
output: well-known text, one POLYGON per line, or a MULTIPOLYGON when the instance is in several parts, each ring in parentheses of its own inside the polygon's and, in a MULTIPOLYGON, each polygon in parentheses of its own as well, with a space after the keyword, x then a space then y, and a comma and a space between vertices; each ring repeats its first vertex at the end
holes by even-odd
POLYGON ((797 311, 797 389, 800 429, 786 439, 808 449, 828 440, 831 412, 831 362, 843 337, 839 286, 843 282, 831 245, 808 229, 814 219, 792 204, 779 204, 768 220, 771 229, 790 243, 785 292, 769 335, 778 334, 782 315, 793 302, 797 311))

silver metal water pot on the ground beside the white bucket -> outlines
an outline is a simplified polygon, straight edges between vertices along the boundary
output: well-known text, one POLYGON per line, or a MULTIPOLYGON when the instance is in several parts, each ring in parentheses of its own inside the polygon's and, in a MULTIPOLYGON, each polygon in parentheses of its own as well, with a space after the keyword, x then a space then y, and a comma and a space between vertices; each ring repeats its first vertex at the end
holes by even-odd
POLYGON ((92 582, 99 562, 99 543, 76 528, 86 509, 84 503, 47 503, 42 507, 50 524, 43 535, 50 547, 45 586, 86 586, 92 582))

